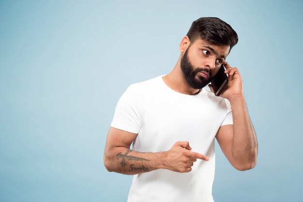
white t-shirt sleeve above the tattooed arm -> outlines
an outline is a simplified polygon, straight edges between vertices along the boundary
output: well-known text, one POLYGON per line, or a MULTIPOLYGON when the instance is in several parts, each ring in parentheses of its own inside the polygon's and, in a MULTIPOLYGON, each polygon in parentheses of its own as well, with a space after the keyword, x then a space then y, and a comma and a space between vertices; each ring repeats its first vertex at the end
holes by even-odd
POLYGON ((141 121, 135 92, 135 89, 133 89, 131 85, 125 93, 122 94, 110 126, 131 133, 138 133, 140 131, 141 121))

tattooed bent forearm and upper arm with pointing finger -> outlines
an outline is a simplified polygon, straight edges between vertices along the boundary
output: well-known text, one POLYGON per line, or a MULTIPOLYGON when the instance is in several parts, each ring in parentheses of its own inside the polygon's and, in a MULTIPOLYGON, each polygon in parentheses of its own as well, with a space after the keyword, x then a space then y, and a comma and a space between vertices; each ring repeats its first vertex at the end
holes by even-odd
POLYGON ((110 127, 104 152, 104 165, 108 171, 138 174, 157 169, 189 172, 198 159, 209 160, 206 155, 191 152, 186 141, 176 142, 169 151, 140 153, 130 150, 137 134, 110 127))

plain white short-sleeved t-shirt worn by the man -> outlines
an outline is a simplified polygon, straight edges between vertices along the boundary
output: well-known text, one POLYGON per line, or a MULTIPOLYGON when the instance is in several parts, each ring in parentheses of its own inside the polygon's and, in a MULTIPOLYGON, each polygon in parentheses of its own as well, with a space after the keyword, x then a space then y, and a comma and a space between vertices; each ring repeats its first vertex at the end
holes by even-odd
POLYGON ((213 202, 214 137, 220 126, 233 124, 230 103, 205 88, 196 95, 170 89, 159 76, 130 85, 121 96, 112 127, 138 133, 137 152, 168 151, 177 141, 188 141, 197 159, 192 171, 158 169, 136 174, 128 202, 213 202))

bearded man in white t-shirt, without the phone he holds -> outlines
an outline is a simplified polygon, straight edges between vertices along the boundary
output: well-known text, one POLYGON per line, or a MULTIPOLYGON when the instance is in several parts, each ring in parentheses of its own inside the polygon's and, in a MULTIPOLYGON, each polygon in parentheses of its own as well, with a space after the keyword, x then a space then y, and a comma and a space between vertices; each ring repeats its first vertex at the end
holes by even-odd
POLYGON ((237 33, 215 17, 193 22, 168 74, 128 87, 107 134, 108 171, 134 174, 129 202, 213 202, 214 138, 237 170, 255 167, 258 144, 242 78, 225 59, 237 33), (220 97, 204 87, 221 64, 220 97), (133 150, 130 146, 133 143, 133 150))

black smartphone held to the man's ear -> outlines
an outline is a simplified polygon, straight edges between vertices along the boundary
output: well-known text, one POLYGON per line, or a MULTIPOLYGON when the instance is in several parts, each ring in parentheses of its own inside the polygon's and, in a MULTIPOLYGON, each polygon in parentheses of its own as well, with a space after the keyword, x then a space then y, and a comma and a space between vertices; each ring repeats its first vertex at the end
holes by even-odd
POLYGON ((225 68, 223 64, 221 65, 218 73, 212 77, 212 89, 216 96, 219 96, 224 88, 227 86, 228 78, 227 75, 224 73, 225 68))

